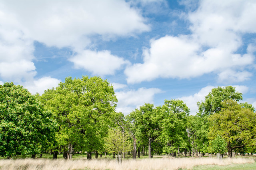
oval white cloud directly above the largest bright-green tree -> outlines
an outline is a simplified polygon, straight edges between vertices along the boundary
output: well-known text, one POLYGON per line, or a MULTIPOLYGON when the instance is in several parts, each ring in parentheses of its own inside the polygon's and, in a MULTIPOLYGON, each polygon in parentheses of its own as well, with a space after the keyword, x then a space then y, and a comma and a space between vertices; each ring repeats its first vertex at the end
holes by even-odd
POLYGON ((91 71, 94 75, 114 75, 115 71, 121 69, 124 64, 130 61, 124 60, 110 51, 84 50, 69 59, 74 63, 75 68, 83 68, 91 71))

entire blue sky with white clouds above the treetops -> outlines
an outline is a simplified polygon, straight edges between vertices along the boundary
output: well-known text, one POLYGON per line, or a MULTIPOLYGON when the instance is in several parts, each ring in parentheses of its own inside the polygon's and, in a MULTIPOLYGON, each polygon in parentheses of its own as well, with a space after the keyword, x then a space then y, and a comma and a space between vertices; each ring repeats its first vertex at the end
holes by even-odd
POLYGON ((0 84, 32 94, 100 76, 116 111, 232 85, 256 107, 255 0, 0 0, 0 84))

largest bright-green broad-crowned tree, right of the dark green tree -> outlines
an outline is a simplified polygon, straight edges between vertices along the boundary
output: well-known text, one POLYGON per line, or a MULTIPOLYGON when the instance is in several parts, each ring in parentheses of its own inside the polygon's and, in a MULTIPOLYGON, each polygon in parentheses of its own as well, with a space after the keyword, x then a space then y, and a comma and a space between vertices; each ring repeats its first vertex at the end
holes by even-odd
POLYGON ((113 87, 100 77, 67 77, 56 89, 45 91, 42 100, 58 121, 57 141, 66 150, 74 144, 91 153, 102 149, 110 114, 116 107, 113 87))

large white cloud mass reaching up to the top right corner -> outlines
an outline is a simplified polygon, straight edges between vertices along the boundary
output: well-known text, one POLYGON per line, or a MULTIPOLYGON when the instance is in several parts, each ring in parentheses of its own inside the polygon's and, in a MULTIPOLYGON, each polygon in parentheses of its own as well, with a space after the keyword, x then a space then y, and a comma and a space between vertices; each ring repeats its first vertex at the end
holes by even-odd
POLYGON ((126 68, 128 83, 162 78, 192 78, 217 73, 218 81, 240 82, 250 79, 245 67, 254 62, 253 45, 247 53, 236 51, 243 44, 242 36, 256 33, 255 1, 200 1, 189 12, 189 36, 165 36, 151 40, 144 50, 143 63, 126 68))

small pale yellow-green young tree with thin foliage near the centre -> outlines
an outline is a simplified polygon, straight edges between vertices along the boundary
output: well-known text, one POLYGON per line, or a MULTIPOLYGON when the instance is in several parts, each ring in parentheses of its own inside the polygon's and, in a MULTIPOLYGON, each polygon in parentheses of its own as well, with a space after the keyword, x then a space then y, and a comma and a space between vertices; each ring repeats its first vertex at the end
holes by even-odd
POLYGON ((105 148, 107 152, 120 154, 121 152, 130 151, 132 142, 126 133, 110 128, 108 136, 105 138, 105 148))

